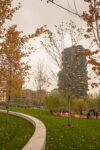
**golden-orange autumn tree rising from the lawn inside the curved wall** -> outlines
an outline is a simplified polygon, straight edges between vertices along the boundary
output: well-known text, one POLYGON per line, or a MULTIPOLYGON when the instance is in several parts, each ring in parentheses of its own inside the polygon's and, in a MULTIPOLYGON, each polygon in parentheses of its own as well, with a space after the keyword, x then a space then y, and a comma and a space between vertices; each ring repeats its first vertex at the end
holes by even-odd
POLYGON ((4 69, 2 69, 0 88, 7 97, 7 110, 9 109, 11 97, 14 97, 22 89, 29 69, 29 66, 22 61, 22 58, 28 56, 26 51, 22 51, 24 44, 28 42, 28 37, 22 36, 22 32, 17 31, 16 27, 16 25, 13 25, 8 28, 1 44, 4 69))

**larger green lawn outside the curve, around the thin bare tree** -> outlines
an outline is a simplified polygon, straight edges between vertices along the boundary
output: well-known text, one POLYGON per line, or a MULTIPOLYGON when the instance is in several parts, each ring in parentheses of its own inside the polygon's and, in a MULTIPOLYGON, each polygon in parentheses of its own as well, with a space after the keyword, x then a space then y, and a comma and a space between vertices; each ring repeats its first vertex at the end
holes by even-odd
MULTIPOLYGON (((11 108, 11 110, 14 110, 11 108)), ((72 118, 73 128, 64 128, 67 118, 48 111, 17 108, 16 111, 35 116, 47 128, 46 150, 100 150, 100 120, 72 118)))

